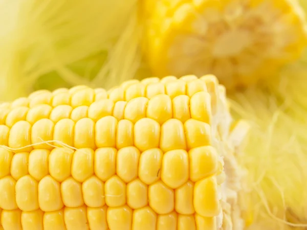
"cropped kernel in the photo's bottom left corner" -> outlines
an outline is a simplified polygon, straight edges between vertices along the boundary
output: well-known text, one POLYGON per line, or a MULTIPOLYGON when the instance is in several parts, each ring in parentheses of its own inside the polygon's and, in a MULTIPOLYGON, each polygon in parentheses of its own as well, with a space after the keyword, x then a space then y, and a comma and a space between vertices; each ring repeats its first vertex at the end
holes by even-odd
POLYGON ((4 229, 23 230, 23 227, 21 227, 21 210, 2 210, 1 224, 4 229))

